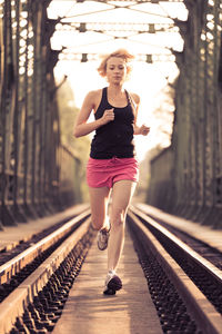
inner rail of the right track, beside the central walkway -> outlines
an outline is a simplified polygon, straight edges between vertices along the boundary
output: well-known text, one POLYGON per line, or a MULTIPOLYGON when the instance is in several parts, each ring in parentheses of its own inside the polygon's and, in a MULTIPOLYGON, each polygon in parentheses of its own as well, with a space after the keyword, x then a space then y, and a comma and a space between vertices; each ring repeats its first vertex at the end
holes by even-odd
POLYGON ((137 230, 139 234, 137 235, 137 237, 139 237, 140 242, 143 243, 143 246, 147 249, 149 249, 148 252, 151 250, 154 254, 157 261, 164 268, 168 277, 171 279, 173 285, 179 291, 189 312, 192 314, 199 327, 205 334, 221 334, 221 328, 222 328, 221 314, 216 312, 216 310, 208 301, 208 298, 203 295, 203 293, 186 276, 184 271, 169 255, 169 253, 163 248, 163 246, 149 230, 149 228, 140 220, 140 218, 144 219, 145 222, 148 222, 148 224, 151 224, 152 226, 155 225, 153 224, 154 220, 150 219, 149 217, 140 213, 140 210, 135 209, 134 207, 130 208, 128 215, 130 217, 129 220, 130 225, 132 224, 137 226, 137 230))

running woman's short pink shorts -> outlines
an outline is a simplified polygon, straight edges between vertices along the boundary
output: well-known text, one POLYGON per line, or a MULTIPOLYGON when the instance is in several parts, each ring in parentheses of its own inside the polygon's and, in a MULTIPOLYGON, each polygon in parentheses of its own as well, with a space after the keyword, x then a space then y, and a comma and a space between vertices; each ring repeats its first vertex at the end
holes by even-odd
POLYGON ((87 165, 87 183, 89 187, 112 188, 119 180, 139 179, 139 167, 135 158, 92 159, 87 165))

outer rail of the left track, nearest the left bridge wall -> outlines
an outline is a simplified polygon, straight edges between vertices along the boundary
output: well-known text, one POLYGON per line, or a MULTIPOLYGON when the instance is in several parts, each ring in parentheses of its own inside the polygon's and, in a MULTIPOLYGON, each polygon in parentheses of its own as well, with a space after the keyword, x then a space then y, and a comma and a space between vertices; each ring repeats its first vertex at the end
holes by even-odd
MULTIPOLYGON (((44 237, 36 245, 32 245, 11 261, 0 266, 0 284, 8 283, 13 275, 18 274, 24 266, 30 264, 38 255, 48 249, 59 239, 71 232, 74 226, 78 226, 82 219, 90 215, 90 209, 84 210, 73 219, 69 220, 62 227, 44 237)), ((0 332, 1 333, 1 332, 0 332)))

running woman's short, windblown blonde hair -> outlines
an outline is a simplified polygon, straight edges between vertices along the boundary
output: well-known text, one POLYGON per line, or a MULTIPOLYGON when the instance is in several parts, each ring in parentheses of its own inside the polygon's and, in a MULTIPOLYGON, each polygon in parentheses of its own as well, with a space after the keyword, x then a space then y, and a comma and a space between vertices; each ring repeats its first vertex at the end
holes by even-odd
POLYGON ((105 77, 107 76, 107 62, 108 60, 111 58, 111 57, 119 57, 119 58, 122 58, 124 59, 125 61, 125 65, 127 65, 127 75, 129 76, 131 70, 132 70, 132 67, 131 67, 131 63, 130 61, 132 59, 134 59, 134 56, 131 55, 130 52, 128 52, 128 50, 125 49, 119 49, 110 55, 105 55, 103 56, 102 58, 102 61, 98 68, 98 72, 101 77, 105 77))

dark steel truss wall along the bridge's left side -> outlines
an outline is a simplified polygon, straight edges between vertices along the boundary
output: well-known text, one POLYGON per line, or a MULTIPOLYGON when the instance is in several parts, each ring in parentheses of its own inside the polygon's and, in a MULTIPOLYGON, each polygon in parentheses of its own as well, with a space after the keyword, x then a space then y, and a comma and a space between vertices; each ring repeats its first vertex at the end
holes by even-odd
MULTIPOLYGON (((58 52, 47 18, 50 1, 1 1, 0 8, 0 227, 44 216, 73 203, 60 196, 60 144, 53 67, 58 52)), ((72 177, 73 179, 73 177, 72 177)), ((70 183, 71 184, 71 183, 70 183)))

